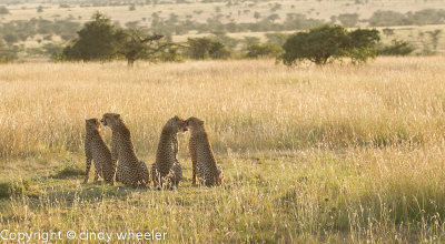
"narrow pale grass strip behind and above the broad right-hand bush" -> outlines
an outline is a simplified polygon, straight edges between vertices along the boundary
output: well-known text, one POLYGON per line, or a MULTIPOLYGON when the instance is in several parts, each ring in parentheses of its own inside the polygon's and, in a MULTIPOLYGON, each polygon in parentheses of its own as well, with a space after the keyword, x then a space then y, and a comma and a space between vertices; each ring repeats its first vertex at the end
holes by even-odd
MULTIPOLYGON (((234 21, 222 21, 222 14, 216 14, 206 20, 198 22, 191 19, 180 20, 175 13, 168 18, 161 18, 158 13, 151 14, 151 23, 148 27, 150 31, 164 34, 186 34, 190 31, 198 33, 209 33, 214 30, 224 32, 267 32, 267 31, 291 31, 308 30, 320 24, 327 23, 322 19, 307 18, 303 13, 287 13, 283 21, 277 21, 280 17, 271 13, 261 17, 255 12, 256 22, 238 23, 234 21)), ((357 27, 358 22, 368 22, 370 27, 393 27, 393 26, 424 26, 424 24, 443 24, 445 23, 445 10, 443 9, 425 9, 416 12, 399 13, 394 11, 376 11, 367 20, 360 20, 356 13, 342 13, 333 16, 330 24, 340 23, 346 28, 357 27)), ((136 22, 134 24, 141 24, 136 22)))

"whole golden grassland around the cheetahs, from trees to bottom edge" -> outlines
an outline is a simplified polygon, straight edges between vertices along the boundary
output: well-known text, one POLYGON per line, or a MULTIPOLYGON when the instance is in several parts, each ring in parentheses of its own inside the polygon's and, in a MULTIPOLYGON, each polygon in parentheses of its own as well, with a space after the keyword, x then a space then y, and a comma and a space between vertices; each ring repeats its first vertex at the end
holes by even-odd
POLYGON ((444 241, 444 57, 0 65, 0 228, 444 241), (224 186, 191 185, 187 133, 179 190, 81 185, 85 119, 106 112, 122 114, 148 164, 169 118, 204 119, 224 186))

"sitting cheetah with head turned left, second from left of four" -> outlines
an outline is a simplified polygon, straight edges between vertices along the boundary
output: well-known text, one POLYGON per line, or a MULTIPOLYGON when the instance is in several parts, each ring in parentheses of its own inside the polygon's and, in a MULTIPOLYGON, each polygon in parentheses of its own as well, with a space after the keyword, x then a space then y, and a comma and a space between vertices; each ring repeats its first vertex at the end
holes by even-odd
POLYGON ((120 114, 106 113, 101 120, 105 126, 110 126, 111 156, 113 162, 119 161, 116 172, 117 180, 127 186, 145 187, 148 183, 148 171, 144 170, 131 142, 131 134, 120 114))

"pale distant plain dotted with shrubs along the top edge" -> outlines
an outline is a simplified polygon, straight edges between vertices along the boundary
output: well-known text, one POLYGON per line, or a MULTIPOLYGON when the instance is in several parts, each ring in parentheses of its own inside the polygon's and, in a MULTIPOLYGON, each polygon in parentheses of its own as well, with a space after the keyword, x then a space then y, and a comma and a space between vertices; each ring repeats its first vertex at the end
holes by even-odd
MULTIPOLYGON (((166 1, 158 1, 159 3, 166 1)), ((170 1, 176 2, 176 1, 170 1)), ((360 4, 355 4, 352 0, 318 1, 318 0, 286 0, 286 1, 238 1, 234 4, 227 2, 205 2, 188 1, 188 3, 161 3, 161 4, 136 4, 135 10, 130 11, 129 6, 107 6, 107 7, 80 7, 79 3, 63 1, 69 8, 60 8, 60 2, 40 2, 40 3, 22 3, 10 4, 7 8, 10 14, 2 16, 4 21, 10 20, 29 20, 31 18, 67 18, 72 16, 75 19, 81 17, 80 21, 87 21, 95 11, 101 11, 111 17, 112 20, 119 21, 121 24, 129 21, 145 22, 142 18, 150 19, 152 13, 158 13, 161 18, 169 18, 171 13, 178 16, 180 20, 185 20, 187 16, 191 16, 190 20, 205 22, 208 18, 221 14, 221 21, 228 22, 235 19, 237 22, 256 22, 255 12, 259 12, 261 18, 277 13, 279 21, 286 19, 287 13, 303 13, 309 18, 330 20, 332 16, 342 13, 358 13, 360 19, 369 18, 377 10, 393 10, 406 13, 408 11, 418 11, 422 9, 439 9, 443 8, 443 0, 435 1, 390 1, 390 0, 370 0, 360 4), (275 4, 281 7, 276 11, 270 9, 275 4), (37 12, 37 8, 41 6, 42 12, 37 12), (216 11, 219 8, 219 11, 216 11), (195 11, 200 11, 197 13, 195 11), (240 13, 238 13, 240 11, 240 13)), ((148 22, 149 24, 150 22, 148 22)))

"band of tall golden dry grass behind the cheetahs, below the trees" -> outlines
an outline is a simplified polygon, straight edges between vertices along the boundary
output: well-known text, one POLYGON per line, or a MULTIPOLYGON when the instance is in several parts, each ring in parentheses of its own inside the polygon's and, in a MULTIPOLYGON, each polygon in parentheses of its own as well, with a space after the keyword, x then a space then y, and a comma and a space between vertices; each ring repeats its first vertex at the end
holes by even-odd
POLYGON ((79 152, 83 120, 106 112, 122 114, 146 154, 175 114, 202 118, 217 151, 442 142, 444 61, 385 58, 293 69, 273 61, 1 65, 0 156, 79 152))

